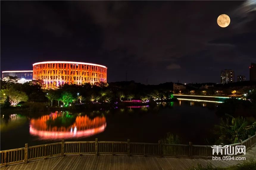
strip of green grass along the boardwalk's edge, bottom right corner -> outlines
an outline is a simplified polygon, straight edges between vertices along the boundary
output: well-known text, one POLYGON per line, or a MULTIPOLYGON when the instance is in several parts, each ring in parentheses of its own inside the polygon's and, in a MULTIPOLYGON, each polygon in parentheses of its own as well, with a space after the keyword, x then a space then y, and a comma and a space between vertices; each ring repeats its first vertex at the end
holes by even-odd
POLYGON ((226 168, 214 168, 211 163, 207 163, 206 167, 202 167, 201 164, 197 164, 197 166, 192 166, 188 170, 256 170, 256 161, 251 158, 249 161, 244 161, 243 163, 238 163, 237 165, 226 168))

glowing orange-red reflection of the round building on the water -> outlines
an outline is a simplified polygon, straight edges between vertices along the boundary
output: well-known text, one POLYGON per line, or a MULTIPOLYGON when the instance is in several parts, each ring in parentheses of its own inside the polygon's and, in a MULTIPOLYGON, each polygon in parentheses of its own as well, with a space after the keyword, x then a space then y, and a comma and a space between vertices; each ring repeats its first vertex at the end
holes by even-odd
POLYGON ((68 127, 47 125, 47 120, 55 120, 60 116, 63 116, 63 114, 55 112, 37 119, 31 119, 29 133, 39 136, 40 139, 79 138, 101 133, 107 125, 105 117, 90 119, 87 115, 77 116, 75 122, 68 127))

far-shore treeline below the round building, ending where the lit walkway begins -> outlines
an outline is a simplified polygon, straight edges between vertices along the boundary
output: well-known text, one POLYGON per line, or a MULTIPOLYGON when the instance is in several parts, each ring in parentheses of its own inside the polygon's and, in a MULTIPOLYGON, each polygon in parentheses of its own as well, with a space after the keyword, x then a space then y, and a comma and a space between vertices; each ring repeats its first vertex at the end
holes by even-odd
MULTIPOLYGON (((148 101, 170 98, 172 83, 160 85, 143 85, 141 83, 85 83, 82 85, 64 84, 58 88, 45 89, 38 81, 24 84, 17 83, 15 78, 1 80, 1 98, 10 100, 10 105, 21 102, 44 102, 49 106, 68 106, 71 103, 85 104, 91 102, 116 103, 121 101, 148 101), (50 101, 50 104, 49 104, 50 101)), ((7 104, 7 103, 6 103, 7 104)), ((8 105, 8 104, 7 104, 8 105)))

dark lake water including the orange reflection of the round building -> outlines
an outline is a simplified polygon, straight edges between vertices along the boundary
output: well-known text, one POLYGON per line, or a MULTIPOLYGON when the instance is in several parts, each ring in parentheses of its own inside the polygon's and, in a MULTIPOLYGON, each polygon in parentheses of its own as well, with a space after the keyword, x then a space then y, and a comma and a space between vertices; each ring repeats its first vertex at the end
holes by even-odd
MULTIPOLYGON (((1 150, 65 141, 127 141, 158 143, 167 132, 182 144, 206 144, 220 118, 218 103, 178 101, 155 107, 95 111, 56 111, 41 116, 1 115, 1 150)), ((38 115, 38 114, 37 114, 38 115)))

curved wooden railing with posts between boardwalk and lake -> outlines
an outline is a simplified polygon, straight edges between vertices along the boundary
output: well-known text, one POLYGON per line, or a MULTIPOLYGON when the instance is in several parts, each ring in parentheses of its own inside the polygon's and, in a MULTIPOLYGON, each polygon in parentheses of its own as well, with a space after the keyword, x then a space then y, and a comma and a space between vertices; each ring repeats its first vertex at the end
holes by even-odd
MULTIPOLYGON (((256 144, 256 132, 254 136, 239 143, 230 144, 229 146, 243 145, 246 150, 256 144)), ((185 144, 162 144, 159 143, 136 143, 130 142, 110 142, 110 141, 85 141, 85 142, 61 142, 52 144, 43 144, 37 146, 25 147, 11 150, 0 151, 0 166, 6 166, 16 163, 27 163, 39 159, 46 159, 55 156, 64 155, 142 155, 142 156, 158 156, 158 157, 174 157, 174 158, 212 158, 211 146, 193 145, 189 142, 185 144)), ((229 155, 230 156, 230 155, 229 155)))

